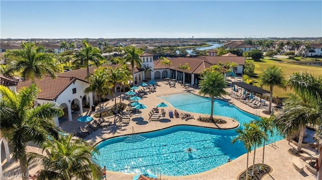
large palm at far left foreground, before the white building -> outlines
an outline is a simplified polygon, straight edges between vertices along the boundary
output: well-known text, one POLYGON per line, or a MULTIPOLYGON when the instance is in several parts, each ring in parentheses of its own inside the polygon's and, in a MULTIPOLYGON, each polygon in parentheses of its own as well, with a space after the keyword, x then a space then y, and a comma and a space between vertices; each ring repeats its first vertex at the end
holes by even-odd
MULTIPOLYGON (((9 140, 13 158, 20 162, 23 174, 29 172, 26 156, 27 143, 33 142, 40 145, 49 134, 57 137, 58 129, 53 118, 63 115, 62 108, 56 103, 43 103, 33 107, 33 100, 36 99, 38 92, 39 89, 35 84, 22 88, 19 94, 0 85, 1 111, 5 114, 1 117, 0 130, 2 135, 9 140)), ((23 177, 23 180, 28 179, 28 176, 23 177)))

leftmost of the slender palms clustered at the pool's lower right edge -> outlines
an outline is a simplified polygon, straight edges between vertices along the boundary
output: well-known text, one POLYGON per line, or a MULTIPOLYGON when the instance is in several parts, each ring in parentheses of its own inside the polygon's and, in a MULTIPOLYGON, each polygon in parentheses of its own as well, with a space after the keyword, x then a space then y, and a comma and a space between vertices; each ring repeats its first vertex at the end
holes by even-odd
POLYGON ((249 153, 252 150, 253 146, 253 132, 252 127, 250 124, 244 123, 244 129, 241 129, 240 127, 236 129, 236 132, 238 133, 237 137, 232 139, 231 143, 234 144, 236 141, 244 142, 244 146, 247 150, 247 163, 246 163, 246 178, 248 177, 248 162, 249 162, 249 153))

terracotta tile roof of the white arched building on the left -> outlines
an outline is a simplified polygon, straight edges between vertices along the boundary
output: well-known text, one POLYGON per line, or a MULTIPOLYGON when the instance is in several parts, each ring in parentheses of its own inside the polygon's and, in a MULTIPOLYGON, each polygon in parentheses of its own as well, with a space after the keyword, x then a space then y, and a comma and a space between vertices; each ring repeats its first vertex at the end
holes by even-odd
MULTIPOLYGON (((52 79, 51 76, 44 76, 42 79, 35 79, 36 85, 41 89, 38 94, 38 99, 54 100, 59 94, 61 94, 72 82, 76 80, 75 77, 63 77, 58 76, 56 79, 52 79)), ((31 80, 20 81, 17 84, 17 92, 22 87, 29 87, 31 80)))

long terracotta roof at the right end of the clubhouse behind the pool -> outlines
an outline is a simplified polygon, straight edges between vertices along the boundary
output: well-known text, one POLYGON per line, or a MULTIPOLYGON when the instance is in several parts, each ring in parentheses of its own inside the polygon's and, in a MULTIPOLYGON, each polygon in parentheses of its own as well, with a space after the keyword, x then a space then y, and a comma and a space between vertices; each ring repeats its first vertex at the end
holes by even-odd
POLYGON ((238 65, 245 65, 245 57, 243 56, 200 56, 196 59, 207 61, 211 64, 218 64, 220 61, 221 63, 225 62, 235 62, 238 65))

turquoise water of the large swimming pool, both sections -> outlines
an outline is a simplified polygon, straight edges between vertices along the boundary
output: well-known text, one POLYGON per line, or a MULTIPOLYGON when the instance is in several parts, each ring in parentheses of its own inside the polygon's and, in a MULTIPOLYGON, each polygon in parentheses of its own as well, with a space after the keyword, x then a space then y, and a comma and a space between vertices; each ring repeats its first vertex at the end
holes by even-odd
MULTIPOLYGON (((191 93, 159 97, 177 109, 210 114, 211 99, 191 93)), ((214 114, 237 119, 242 125, 258 116, 241 111, 227 102, 215 100, 214 114)), ((243 126, 241 126, 243 127, 243 126)), ((244 144, 231 140, 237 135, 234 129, 218 130, 194 126, 176 126, 150 133, 116 137, 101 142, 97 148, 101 166, 125 173, 190 175, 204 172, 235 159, 247 151, 244 144), (186 150, 191 147, 193 151, 186 150)), ((270 137, 269 142, 281 140, 270 137)))

